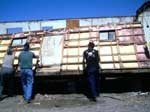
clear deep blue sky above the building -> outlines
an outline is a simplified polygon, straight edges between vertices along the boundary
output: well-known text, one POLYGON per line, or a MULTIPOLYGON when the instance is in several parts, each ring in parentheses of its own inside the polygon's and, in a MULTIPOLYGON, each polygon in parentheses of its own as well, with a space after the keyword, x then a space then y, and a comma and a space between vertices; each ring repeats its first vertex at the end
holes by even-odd
POLYGON ((0 0, 0 21, 131 16, 144 0, 0 0))

